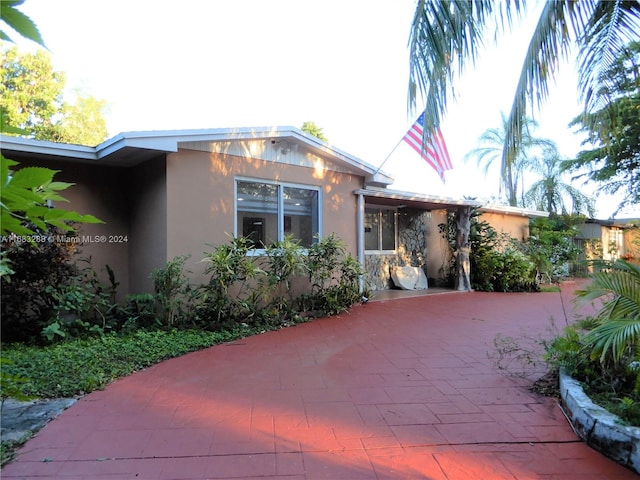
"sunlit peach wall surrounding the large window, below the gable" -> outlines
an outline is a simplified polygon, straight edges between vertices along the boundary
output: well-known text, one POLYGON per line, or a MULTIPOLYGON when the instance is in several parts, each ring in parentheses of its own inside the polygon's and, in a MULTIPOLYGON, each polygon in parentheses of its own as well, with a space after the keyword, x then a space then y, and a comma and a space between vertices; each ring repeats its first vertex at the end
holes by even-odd
POLYGON ((194 281, 206 281, 200 262, 210 245, 234 234, 236 177, 322 188, 322 234, 335 233, 356 255, 356 196, 362 178, 305 166, 195 150, 167 158, 167 259, 191 255, 194 281))

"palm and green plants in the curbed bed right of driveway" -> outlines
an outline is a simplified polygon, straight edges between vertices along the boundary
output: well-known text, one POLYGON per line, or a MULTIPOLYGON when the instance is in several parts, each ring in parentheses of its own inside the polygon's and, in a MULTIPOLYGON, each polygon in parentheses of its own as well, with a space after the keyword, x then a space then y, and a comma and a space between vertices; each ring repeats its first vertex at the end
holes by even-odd
POLYGON ((547 360, 580 381, 595 403, 640 425, 640 267, 624 260, 602 267, 576 292, 578 304, 602 300, 599 310, 549 342, 547 360))

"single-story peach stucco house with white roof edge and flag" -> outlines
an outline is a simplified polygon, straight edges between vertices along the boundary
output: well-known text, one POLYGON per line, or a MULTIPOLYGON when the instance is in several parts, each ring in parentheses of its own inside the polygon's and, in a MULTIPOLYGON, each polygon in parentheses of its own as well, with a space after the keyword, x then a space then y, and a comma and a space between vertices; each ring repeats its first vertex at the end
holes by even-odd
MULTIPOLYGON (((392 286, 396 265, 439 278, 448 252, 438 224, 447 210, 481 206, 391 190, 384 172, 293 127, 130 132, 97 147, 1 142, 21 166, 59 170, 56 180, 75 184, 61 207, 104 220, 82 226, 79 249, 96 270, 113 268, 121 293, 150 290, 149 273, 179 255, 191 256, 194 282, 206 281, 204 252, 231 236, 261 246, 293 235, 304 246, 334 233, 374 290, 392 286)), ((520 238, 532 213, 483 215, 515 222, 508 229, 520 238)))

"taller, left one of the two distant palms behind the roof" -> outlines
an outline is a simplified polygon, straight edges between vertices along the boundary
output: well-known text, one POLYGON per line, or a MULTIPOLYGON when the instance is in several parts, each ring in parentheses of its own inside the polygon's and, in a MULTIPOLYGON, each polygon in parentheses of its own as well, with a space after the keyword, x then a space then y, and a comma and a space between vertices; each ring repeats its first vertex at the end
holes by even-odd
MULTIPOLYGON (((503 192, 507 196, 509 205, 518 205, 517 190, 518 183, 522 179, 522 173, 527 169, 530 162, 529 151, 534 147, 551 147, 553 142, 545 138, 538 138, 532 135, 537 123, 532 118, 525 118, 523 129, 522 145, 512 164, 508 165, 500 175, 500 194, 503 192)), ((489 128, 478 138, 480 147, 469 151, 464 160, 475 157, 478 166, 482 166, 485 176, 494 162, 502 156, 502 146, 504 145, 507 131, 507 118, 502 114, 501 128, 489 128)))

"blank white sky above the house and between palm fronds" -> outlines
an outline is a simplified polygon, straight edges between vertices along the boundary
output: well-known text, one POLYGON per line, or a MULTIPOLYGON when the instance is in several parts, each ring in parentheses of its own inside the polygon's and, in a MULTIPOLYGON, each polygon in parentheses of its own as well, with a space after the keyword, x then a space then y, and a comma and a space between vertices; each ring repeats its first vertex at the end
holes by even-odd
MULTIPOLYGON (((109 135, 124 131, 290 125, 321 127, 332 145, 396 178, 390 188, 486 199, 485 177, 462 157, 508 112, 538 8, 456 83, 443 124, 454 170, 445 185, 401 144, 414 0, 26 0, 67 86, 109 104, 109 135)), ((21 48, 27 45, 20 42, 21 48)), ((580 150, 567 126, 579 112, 573 65, 541 111, 538 135, 563 156, 580 150)), ((579 185, 576 185, 579 186, 579 185)), ((583 187, 580 187, 583 188, 583 187)), ((600 198, 598 217, 614 209, 600 198)), ((625 216, 638 215, 627 212, 625 216)))

